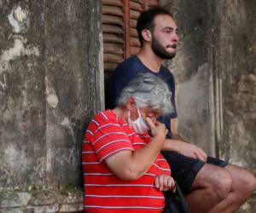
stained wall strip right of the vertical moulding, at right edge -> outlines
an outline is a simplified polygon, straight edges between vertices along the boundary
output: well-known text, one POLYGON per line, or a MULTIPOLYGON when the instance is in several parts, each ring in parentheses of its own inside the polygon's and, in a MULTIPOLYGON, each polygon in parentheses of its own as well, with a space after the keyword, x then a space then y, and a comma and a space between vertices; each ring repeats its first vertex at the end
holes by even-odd
MULTIPOLYGON (((256 175, 256 2, 213 1, 219 155, 256 175)), ((256 212, 256 194, 239 212, 256 212)))

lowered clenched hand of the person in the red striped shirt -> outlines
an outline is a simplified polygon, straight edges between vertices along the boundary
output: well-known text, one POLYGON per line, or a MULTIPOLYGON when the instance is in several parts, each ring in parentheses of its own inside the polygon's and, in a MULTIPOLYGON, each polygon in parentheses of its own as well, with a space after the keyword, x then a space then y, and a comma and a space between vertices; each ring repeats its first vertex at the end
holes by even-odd
POLYGON ((166 192, 169 189, 173 191, 175 182, 172 176, 160 175, 155 177, 154 187, 158 188, 161 192, 166 192))

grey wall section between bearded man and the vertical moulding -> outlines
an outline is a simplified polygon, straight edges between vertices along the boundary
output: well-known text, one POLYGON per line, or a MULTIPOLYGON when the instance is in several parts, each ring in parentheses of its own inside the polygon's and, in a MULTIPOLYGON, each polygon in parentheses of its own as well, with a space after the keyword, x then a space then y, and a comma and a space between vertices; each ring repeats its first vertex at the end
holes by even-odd
POLYGON ((177 56, 166 61, 177 83, 178 132, 214 155, 212 67, 208 1, 160 1, 177 20, 177 56))

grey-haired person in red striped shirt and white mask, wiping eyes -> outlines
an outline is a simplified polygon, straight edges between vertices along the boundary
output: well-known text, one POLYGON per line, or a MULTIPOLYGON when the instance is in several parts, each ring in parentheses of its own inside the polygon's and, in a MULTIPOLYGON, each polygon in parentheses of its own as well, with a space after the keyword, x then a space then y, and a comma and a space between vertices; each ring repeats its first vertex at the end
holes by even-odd
POLYGON ((160 154, 167 130, 156 118, 172 112, 171 95, 161 78, 138 74, 117 107, 91 120, 82 153, 84 211, 163 211, 163 192, 173 189, 174 181, 160 154))

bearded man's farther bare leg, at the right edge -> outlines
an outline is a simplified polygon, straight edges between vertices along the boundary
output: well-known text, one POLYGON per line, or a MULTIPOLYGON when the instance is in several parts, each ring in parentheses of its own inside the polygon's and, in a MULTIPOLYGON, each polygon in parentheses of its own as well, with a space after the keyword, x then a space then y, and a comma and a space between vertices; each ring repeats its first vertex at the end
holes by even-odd
POLYGON ((232 188, 229 195, 215 205, 209 213, 230 213, 238 210, 256 189, 256 179, 247 170, 235 165, 227 165, 225 170, 232 176, 232 188))

